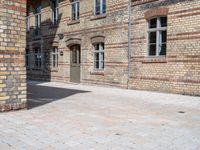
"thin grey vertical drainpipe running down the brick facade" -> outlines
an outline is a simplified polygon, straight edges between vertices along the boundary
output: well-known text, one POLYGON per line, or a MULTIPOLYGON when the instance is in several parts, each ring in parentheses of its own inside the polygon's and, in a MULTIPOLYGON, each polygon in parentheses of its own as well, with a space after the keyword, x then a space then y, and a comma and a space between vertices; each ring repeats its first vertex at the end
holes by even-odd
POLYGON ((128 81, 127 88, 131 78, 131 0, 128 0, 128 81))

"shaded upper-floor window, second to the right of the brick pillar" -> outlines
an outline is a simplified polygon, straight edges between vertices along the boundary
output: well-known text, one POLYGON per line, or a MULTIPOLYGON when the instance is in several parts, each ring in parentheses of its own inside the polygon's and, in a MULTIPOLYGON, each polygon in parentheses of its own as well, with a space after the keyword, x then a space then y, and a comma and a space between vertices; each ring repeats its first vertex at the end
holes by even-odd
POLYGON ((41 6, 37 6, 35 9, 35 35, 40 35, 41 26, 41 6))

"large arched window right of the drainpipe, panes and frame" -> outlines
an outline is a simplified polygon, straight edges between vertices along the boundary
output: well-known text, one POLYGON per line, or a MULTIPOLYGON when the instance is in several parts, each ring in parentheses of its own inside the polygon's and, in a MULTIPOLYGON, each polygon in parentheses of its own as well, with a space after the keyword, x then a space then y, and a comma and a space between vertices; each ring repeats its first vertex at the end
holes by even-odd
POLYGON ((167 42, 167 17, 157 17, 149 21, 149 56, 165 56, 167 42))

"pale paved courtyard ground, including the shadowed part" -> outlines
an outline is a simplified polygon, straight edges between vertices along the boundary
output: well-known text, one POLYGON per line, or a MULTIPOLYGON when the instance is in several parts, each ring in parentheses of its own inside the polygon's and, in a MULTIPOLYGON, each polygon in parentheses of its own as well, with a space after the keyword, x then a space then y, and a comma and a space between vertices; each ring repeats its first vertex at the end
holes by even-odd
POLYGON ((0 113, 0 150, 200 150, 200 97, 29 82, 28 99, 0 113))

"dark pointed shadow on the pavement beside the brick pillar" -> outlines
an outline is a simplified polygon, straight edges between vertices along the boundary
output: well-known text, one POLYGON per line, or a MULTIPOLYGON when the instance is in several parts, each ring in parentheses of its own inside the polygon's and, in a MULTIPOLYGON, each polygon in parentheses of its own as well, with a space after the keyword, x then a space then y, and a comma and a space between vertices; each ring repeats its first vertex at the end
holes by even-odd
POLYGON ((88 92, 90 91, 28 84, 28 109, 33 109, 75 94, 88 92))

